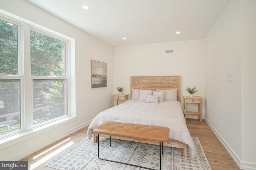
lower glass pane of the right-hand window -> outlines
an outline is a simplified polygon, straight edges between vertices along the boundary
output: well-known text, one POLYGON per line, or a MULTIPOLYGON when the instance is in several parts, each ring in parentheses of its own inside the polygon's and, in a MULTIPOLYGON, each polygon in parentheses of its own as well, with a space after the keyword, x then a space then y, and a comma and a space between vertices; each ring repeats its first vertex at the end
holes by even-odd
POLYGON ((67 80, 33 80, 33 124, 67 115, 67 80))

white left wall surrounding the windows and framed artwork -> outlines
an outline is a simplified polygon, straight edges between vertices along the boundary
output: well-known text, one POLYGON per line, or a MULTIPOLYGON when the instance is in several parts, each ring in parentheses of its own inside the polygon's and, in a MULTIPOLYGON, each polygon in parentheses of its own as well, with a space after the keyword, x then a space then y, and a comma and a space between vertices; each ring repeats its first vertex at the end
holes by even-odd
POLYGON ((62 33, 76 41, 76 121, 25 135, 0 145, 0 160, 20 160, 88 125, 98 112, 112 106, 113 47, 37 8, 26 0, 2 0, 0 9, 62 33), (99 50, 100 49, 100 50, 99 50), (90 88, 90 60, 107 63, 107 87, 90 88), (105 100, 108 104, 105 105, 105 100))

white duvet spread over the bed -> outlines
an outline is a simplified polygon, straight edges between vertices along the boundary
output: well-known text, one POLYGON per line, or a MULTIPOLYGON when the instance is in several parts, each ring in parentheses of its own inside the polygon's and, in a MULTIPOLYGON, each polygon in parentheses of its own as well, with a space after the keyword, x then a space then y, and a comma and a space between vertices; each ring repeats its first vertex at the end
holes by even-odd
POLYGON ((92 138, 92 130, 106 121, 163 126, 170 129, 169 138, 188 145, 191 157, 195 156, 194 143, 184 119, 186 111, 180 102, 164 101, 146 103, 140 100, 127 100, 118 106, 100 112, 90 123, 87 137, 92 138))

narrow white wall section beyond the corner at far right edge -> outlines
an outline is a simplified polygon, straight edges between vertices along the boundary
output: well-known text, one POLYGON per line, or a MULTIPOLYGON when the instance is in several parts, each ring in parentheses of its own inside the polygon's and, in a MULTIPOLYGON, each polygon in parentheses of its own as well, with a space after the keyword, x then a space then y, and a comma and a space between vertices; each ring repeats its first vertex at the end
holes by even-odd
POLYGON ((242 166, 256 169, 256 1, 242 6, 242 166))

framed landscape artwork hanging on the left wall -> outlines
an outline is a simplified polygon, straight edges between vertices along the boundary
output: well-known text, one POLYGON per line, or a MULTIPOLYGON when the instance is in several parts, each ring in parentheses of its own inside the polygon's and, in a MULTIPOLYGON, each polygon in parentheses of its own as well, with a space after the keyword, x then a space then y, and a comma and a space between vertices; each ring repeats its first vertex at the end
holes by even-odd
POLYGON ((91 88, 107 86, 107 63, 91 60, 91 88))

